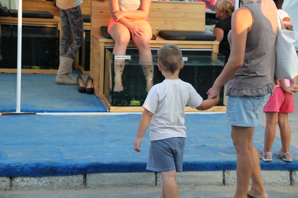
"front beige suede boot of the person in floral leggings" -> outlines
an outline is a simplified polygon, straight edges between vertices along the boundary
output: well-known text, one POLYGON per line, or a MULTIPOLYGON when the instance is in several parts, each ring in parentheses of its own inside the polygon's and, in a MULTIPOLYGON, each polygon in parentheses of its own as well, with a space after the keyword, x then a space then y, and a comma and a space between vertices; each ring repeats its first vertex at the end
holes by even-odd
POLYGON ((72 63, 74 60, 65 56, 60 56, 59 69, 56 75, 56 84, 77 84, 77 81, 72 78, 72 63))

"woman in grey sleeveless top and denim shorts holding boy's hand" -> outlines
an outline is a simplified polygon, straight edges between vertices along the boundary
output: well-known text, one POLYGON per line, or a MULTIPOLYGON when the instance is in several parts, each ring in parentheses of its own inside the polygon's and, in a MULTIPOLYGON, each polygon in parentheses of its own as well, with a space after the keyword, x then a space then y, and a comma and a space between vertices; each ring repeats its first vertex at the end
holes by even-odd
POLYGON ((222 73, 208 91, 215 97, 228 82, 226 122, 237 152, 236 197, 268 198, 257 149, 252 144, 260 113, 273 92, 277 11, 272 0, 243 0, 233 12, 228 39, 231 54, 222 73), (251 190, 248 191, 250 179, 251 190))

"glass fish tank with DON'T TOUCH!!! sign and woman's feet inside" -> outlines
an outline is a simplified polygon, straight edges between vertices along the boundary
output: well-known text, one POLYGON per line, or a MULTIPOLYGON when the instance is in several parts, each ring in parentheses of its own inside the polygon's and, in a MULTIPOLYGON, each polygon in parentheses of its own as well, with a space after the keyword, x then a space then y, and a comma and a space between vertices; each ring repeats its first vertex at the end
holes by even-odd
MULTIPOLYGON (((224 68, 225 56, 208 49, 181 50, 184 67, 179 78, 192 84, 207 99, 207 91, 224 68)), ((142 106, 147 91, 165 80, 157 67, 157 49, 151 49, 152 57, 140 57, 137 49, 127 49, 123 56, 112 51, 112 47, 105 48, 104 96, 111 106, 142 106)), ((223 102, 224 88, 220 90, 218 105, 222 106, 223 102)))

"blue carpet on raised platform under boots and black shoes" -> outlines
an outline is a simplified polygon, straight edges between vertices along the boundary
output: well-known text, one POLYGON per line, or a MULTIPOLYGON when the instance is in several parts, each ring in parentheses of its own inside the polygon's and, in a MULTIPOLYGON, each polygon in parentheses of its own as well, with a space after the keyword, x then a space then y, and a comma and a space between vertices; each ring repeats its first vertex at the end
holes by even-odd
MULTIPOLYGON (((22 74, 21 111, 106 111, 102 101, 94 94, 79 93, 77 85, 58 85, 55 78, 56 75, 50 74, 22 74)), ((0 74, 0 84, 0 112, 16 111, 16 74, 0 74)))

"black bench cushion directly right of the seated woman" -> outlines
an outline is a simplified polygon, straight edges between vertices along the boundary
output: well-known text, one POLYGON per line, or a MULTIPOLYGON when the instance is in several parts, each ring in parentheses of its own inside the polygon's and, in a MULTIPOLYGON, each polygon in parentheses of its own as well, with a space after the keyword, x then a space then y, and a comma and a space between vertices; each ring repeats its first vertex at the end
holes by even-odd
POLYGON ((158 35, 167 40, 181 40, 181 41, 215 41, 216 40, 216 36, 208 32, 160 30, 158 32, 158 35))

